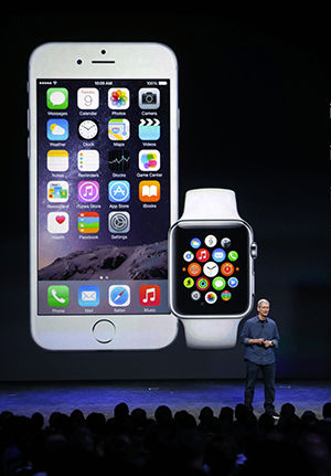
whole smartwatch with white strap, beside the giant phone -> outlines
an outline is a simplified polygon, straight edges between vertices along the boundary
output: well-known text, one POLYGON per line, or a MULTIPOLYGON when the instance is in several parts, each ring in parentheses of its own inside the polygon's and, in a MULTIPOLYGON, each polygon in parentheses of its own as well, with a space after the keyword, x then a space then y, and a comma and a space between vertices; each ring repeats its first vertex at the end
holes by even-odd
POLYGON ((195 189, 169 236, 169 302, 196 349, 236 345, 241 319, 254 304, 253 230, 227 189, 195 189))

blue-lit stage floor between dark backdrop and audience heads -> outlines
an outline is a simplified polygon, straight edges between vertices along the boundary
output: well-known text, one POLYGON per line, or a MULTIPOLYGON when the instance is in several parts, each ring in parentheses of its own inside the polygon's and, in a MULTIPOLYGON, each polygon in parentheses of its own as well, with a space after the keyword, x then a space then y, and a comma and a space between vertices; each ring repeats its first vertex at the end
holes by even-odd
MULTIPOLYGON (((41 412, 45 417, 54 411, 70 414, 81 409, 85 416, 100 412, 113 416, 114 406, 126 402, 130 411, 146 410, 152 416, 156 409, 166 404, 175 412, 188 410, 197 419, 203 406, 211 406, 218 415, 222 406, 235 408, 244 399, 243 380, 167 380, 167 381, 109 381, 109 382, 21 382, 0 383, 0 412, 9 410, 17 415, 30 416, 41 412)), ((331 381, 285 381, 276 384, 276 410, 291 402, 300 416, 305 410, 320 419, 322 408, 331 401, 331 381)), ((264 412, 264 388, 258 382, 254 409, 264 412)))

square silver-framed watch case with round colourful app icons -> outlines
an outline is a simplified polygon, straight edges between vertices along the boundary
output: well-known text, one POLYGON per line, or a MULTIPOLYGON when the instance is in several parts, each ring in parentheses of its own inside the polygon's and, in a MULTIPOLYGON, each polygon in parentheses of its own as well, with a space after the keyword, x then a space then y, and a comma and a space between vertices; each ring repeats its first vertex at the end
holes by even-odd
POLYGON ((173 311, 183 317, 245 314, 252 299, 249 225, 182 221, 171 235, 173 311))

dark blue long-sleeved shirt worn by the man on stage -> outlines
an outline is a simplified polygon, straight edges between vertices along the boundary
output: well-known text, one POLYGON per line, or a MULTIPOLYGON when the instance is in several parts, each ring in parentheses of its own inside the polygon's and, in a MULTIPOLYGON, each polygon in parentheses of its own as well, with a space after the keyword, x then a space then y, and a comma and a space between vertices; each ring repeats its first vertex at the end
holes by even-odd
POLYGON ((261 366, 275 362, 275 348, 279 342, 279 332, 275 320, 267 317, 266 320, 260 320, 258 316, 254 316, 246 320, 242 334, 242 343, 246 346, 245 359, 261 366), (273 340, 274 346, 267 349, 258 343, 248 343, 249 339, 273 340))

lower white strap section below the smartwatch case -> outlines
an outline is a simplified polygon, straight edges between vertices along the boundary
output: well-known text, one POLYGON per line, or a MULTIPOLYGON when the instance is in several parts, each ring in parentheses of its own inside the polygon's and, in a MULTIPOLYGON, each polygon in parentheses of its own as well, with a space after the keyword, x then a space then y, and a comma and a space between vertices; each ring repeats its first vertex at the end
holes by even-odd
POLYGON ((228 349, 237 341, 241 319, 182 319, 186 345, 193 349, 228 349))

